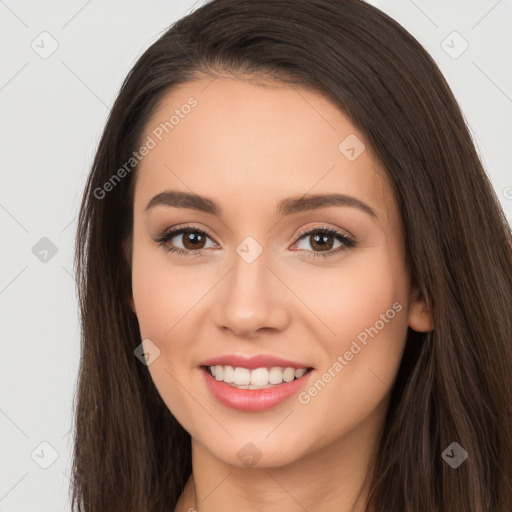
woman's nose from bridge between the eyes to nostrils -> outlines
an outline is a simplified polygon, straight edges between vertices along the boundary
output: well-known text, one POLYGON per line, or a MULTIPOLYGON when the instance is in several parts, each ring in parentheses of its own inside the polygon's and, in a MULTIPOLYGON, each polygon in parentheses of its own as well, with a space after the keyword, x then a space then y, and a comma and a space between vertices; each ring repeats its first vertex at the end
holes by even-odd
POLYGON ((247 237, 236 248, 231 272, 221 287, 216 323, 238 335, 251 335, 262 327, 282 329, 286 304, 279 280, 268 268, 270 252, 247 237))

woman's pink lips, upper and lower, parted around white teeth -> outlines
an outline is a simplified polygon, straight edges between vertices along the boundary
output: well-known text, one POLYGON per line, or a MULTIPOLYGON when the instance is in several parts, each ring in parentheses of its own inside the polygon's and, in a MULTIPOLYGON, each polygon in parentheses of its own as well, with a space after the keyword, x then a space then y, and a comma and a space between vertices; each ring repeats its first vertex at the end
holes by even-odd
POLYGON ((282 368, 307 368, 312 369, 307 364, 288 361, 279 357, 258 355, 250 358, 229 355, 216 357, 203 361, 201 366, 201 373, 205 379, 206 386, 212 395, 222 404, 232 409, 245 412, 258 412, 264 411, 275 407, 276 405, 284 402, 288 398, 297 394, 300 389, 309 381, 312 371, 307 371, 302 377, 292 380, 291 382, 282 382, 270 388, 265 389, 238 389, 225 382, 219 381, 210 375, 206 366, 233 366, 243 367, 253 370, 255 368, 271 368, 280 366, 282 368))

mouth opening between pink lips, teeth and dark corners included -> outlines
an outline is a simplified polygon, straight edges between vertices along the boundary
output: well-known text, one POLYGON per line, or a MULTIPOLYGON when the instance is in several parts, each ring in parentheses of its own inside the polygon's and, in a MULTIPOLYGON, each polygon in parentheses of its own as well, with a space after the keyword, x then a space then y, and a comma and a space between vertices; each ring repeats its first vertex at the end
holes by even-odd
POLYGON ((229 365, 202 366, 215 380, 236 389, 267 389, 300 379, 313 368, 261 367, 255 369, 229 365))

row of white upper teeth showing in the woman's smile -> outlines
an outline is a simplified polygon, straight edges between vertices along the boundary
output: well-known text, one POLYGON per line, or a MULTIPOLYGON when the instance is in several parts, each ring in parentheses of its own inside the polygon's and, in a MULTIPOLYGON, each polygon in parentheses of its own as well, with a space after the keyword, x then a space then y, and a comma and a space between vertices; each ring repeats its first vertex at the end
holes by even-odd
POLYGON ((216 380, 222 380, 226 383, 233 383, 239 386, 254 385, 254 386, 267 386, 268 384, 281 384, 283 380, 285 382, 291 382, 294 378, 302 377, 307 369, 306 368, 255 368, 249 370, 248 368, 242 368, 237 366, 209 366, 212 375, 216 380))

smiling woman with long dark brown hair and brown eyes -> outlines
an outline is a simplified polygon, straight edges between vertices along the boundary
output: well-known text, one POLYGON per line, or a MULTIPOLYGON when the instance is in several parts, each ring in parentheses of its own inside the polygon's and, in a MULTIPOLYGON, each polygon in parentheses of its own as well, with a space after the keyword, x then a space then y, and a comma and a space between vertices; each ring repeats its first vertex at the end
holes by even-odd
POLYGON ((75 263, 76 510, 510 510, 510 227, 376 8, 174 24, 111 111, 75 263))

